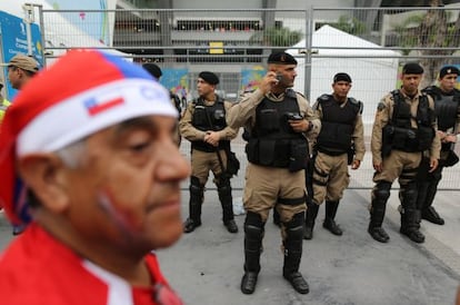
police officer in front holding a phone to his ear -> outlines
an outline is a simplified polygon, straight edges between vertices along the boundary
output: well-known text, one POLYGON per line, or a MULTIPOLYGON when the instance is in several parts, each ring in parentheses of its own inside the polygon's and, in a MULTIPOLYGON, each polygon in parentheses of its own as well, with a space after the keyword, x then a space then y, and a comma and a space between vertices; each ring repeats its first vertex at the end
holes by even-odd
POLYGON ((248 167, 243 205, 244 275, 241 292, 252 294, 260 272, 264 225, 271 208, 280 214, 284 249, 283 277, 307 294, 309 286, 299 272, 306 210, 306 134, 319 132, 321 122, 307 99, 290 89, 297 76, 296 59, 286 52, 268 58, 268 72, 259 89, 230 109, 229 125, 244 126, 248 167))

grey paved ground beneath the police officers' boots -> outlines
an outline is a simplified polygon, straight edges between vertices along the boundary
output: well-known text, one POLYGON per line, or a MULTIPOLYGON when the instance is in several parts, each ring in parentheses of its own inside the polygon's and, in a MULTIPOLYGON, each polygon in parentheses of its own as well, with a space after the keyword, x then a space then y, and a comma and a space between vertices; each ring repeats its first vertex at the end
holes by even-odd
MULTIPOLYGON (((427 242, 417 245, 399 233, 397 193, 383 224, 391 239, 374 242, 366 232, 369 190, 349 189, 337 220, 342 237, 321 227, 323 208, 312 240, 304 240, 301 272, 310 284, 310 294, 296 293, 281 276, 282 255, 279 229, 270 223, 263 242, 262 270, 253 295, 243 295, 239 285, 243 263, 244 216, 237 216, 240 233, 227 233, 220 222, 221 209, 214 190, 206 193, 203 225, 183 235, 176 246, 160 250, 162 269, 186 304, 401 304, 452 305, 460 284, 460 196, 441 191, 437 207, 444 226, 422 223, 427 242)), ((233 193, 236 200, 241 190, 233 193)), ((183 191, 187 216, 188 191, 183 191)), ((11 237, 0 216, 0 249, 11 237)), ((38 245, 39 246, 39 245, 38 245)))

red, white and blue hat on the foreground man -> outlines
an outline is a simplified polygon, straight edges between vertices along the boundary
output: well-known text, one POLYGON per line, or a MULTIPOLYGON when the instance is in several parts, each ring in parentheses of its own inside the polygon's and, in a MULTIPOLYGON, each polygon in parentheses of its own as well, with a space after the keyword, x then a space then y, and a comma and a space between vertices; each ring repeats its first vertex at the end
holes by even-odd
POLYGON ((50 152, 123 120, 177 117, 169 92, 142 67, 94 50, 73 50, 18 94, 0 126, 0 206, 16 224, 30 222, 18 157, 50 152))

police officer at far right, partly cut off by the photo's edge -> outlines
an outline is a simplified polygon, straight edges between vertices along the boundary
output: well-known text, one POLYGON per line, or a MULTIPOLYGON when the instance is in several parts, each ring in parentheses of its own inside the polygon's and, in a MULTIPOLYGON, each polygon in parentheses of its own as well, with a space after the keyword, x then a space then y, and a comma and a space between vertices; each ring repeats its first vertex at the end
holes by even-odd
POLYGON ((423 89, 423 92, 434 100, 438 134, 441 139, 441 158, 437 169, 427 175, 426 181, 419 184, 418 205, 421 208, 422 219, 437 225, 444 224, 444 219, 432 206, 438 184, 442 178, 442 169, 458 161, 453 152, 460 125, 460 90, 454 88, 458 76, 457 67, 446 66, 439 71, 439 87, 430 86, 423 89))

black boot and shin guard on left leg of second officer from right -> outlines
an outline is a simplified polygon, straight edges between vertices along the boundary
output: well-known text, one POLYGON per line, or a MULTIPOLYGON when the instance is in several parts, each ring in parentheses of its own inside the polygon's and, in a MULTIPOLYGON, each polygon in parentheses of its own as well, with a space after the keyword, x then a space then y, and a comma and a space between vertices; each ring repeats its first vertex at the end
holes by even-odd
POLYGON ((372 189, 372 206, 370 209, 370 222, 368 233, 380 243, 388 243, 390 236, 382 228, 387 200, 390 197, 391 183, 379 181, 372 189))

